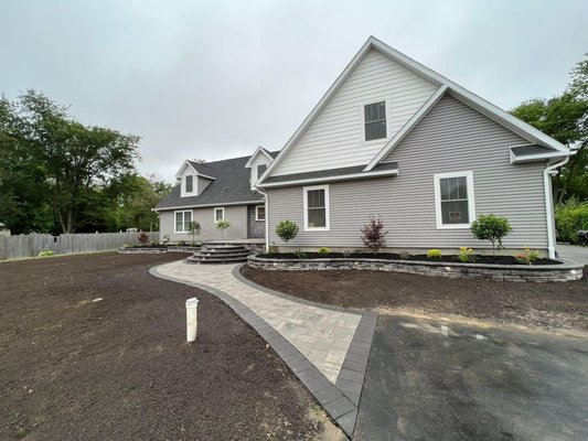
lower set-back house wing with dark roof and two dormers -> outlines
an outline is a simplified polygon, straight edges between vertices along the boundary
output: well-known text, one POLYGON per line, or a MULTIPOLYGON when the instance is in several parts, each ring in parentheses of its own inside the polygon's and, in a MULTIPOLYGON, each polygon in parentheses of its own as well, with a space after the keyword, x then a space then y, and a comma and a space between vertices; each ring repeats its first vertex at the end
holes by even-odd
POLYGON ((190 241, 188 225, 197 220, 197 240, 221 240, 220 220, 228 220, 226 240, 265 239, 264 195, 254 184, 277 152, 259 147, 250 157, 214 162, 186 160, 178 171, 178 184, 154 208, 160 215, 160 237, 190 241))

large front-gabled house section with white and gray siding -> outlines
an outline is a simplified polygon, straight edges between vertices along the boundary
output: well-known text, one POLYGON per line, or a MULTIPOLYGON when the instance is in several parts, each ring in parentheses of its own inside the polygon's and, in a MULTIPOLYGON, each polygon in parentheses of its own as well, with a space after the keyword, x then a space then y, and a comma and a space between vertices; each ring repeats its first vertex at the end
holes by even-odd
POLYGON ((370 37, 260 176, 268 245, 300 226, 290 248, 362 248, 381 216, 387 247, 478 252, 471 222, 505 216, 514 252, 555 254, 552 173, 566 146, 370 37))

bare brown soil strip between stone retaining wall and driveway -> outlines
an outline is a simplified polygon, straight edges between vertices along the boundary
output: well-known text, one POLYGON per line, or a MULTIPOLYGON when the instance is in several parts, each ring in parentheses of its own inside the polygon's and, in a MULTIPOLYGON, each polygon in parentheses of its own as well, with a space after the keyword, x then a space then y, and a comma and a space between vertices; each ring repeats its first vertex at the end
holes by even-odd
POLYGON ((565 283, 499 282, 384 271, 268 271, 247 266, 242 273, 264 287, 336 306, 410 310, 588 330, 588 267, 581 280, 565 283))

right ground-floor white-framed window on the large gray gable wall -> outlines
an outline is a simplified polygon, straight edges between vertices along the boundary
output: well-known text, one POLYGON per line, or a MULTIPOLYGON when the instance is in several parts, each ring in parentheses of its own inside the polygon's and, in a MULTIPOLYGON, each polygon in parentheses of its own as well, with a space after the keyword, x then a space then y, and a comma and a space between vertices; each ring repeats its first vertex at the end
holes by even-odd
POLYGON ((437 228, 469 228, 475 218, 473 172, 439 173, 434 180, 437 228))

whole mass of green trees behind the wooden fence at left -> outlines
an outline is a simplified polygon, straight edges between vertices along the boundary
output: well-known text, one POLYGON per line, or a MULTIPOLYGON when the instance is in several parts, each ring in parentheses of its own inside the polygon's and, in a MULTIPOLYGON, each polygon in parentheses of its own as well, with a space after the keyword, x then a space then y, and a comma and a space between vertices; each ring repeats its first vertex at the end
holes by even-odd
POLYGON ((136 174, 138 144, 42 93, 0 98, 0 223, 13 234, 157 226, 151 208, 169 185, 136 174))

